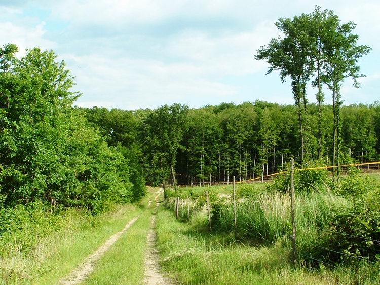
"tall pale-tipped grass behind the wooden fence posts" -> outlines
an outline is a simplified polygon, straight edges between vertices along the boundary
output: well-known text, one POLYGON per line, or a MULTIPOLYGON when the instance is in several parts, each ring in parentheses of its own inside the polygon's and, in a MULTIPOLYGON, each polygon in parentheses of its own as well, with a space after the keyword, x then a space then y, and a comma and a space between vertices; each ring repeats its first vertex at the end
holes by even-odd
MULTIPOLYGON (((347 203, 329 192, 312 192, 295 199, 295 220, 300 247, 315 241, 320 231, 328 228, 328 216, 332 209, 347 203)), ((230 201, 215 203, 213 223, 223 231, 234 229, 233 204, 230 201)), ((253 199, 239 199, 237 203, 237 236, 274 242, 290 236, 290 197, 282 192, 263 192, 253 199)))

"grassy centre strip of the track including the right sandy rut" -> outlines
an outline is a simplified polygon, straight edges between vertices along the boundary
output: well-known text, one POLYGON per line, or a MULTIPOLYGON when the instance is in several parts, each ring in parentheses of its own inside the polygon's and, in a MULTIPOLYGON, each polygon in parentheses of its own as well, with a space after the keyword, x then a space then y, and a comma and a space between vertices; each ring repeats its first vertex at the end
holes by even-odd
POLYGON ((170 280, 159 272, 158 256, 155 252, 155 241, 149 239, 154 233, 154 221, 158 209, 158 197, 161 192, 151 189, 152 207, 143 211, 139 219, 128 229, 95 265, 92 275, 84 284, 123 284, 123 285, 170 285, 170 280), (154 274, 147 268, 155 269, 154 274))

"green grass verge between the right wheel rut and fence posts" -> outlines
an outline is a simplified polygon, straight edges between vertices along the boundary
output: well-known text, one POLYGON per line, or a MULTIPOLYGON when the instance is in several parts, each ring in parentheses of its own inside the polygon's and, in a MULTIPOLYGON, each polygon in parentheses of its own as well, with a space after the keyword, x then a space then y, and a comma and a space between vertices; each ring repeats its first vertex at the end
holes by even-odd
POLYGON ((184 223, 161 208, 157 234, 164 270, 181 284, 377 284, 380 280, 380 276, 363 279, 370 268, 293 267, 283 240, 258 247, 235 242, 232 234, 209 233, 202 212, 184 223))

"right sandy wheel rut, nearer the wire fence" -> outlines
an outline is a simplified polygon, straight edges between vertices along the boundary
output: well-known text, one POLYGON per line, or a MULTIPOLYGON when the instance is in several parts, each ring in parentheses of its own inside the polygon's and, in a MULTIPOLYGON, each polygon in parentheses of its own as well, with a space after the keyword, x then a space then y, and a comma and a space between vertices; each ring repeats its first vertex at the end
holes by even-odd
MULTIPOLYGON (((156 200, 156 212, 158 211, 158 207, 160 203, 157 201, 158 196, 162 191, 157 192, 156 200)), ((150 231, 147 235, 147 250, 145 252, 145 285, 173 285, 173 281, 170 278, 164 277, 160 273, 160 258, 158 255, 158 250, 156 248, 156 233, 155 233, 155 225, 156 225, 156 215, 153 215, 150 221, 150 231)))

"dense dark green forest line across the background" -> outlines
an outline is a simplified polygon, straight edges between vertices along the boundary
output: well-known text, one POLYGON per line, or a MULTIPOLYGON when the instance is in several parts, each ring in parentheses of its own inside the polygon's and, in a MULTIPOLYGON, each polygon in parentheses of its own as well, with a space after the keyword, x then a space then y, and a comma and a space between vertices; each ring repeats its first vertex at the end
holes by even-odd
MULTIPOLYGON (((233 176, 246 180, 280 171, 291 157, 302 162, 296 105, 257 100, 194 109, 173 104, 155 110, 84 111, 102 133, 125 137, 135 146, 143 176, 153 185, 229 183, 233 176)), ((379 160, 380 102, 343 105, 340 112, 340 163, 379 160)), ((306 166, 333 161, 333 106, 323 104, 322 116, 319 129, 319 106, 308 103, 306 166)))

